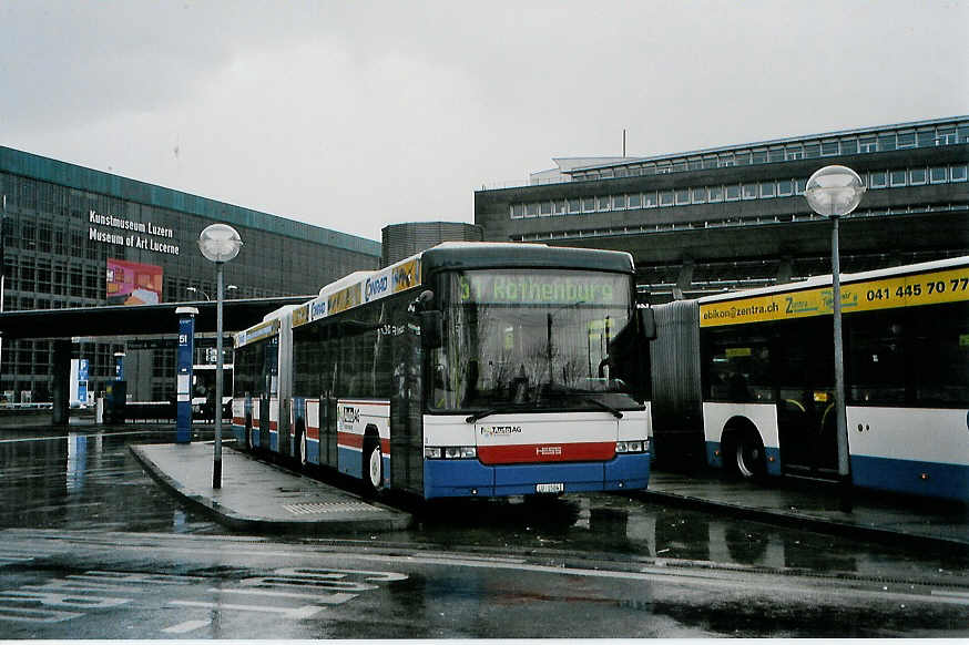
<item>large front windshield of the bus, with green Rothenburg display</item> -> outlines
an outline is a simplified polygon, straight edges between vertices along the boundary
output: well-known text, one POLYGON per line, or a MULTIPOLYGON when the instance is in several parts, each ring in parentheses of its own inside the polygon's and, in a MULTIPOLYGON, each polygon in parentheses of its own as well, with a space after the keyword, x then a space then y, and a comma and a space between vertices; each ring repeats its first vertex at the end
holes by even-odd
MULTIPOLYGON (((440 283, 435 411, 638 408, 609 349, 633 335, 632 276, 560 269, 469 270, 440 283)), ((630 347, 635 347, 635 344, 630 347)))

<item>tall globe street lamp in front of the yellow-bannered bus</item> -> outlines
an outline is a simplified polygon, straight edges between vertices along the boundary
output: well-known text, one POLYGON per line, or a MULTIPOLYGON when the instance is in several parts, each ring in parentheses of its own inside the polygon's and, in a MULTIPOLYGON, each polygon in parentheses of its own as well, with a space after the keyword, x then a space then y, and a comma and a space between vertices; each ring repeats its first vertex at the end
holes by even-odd
POLYGON ((848 483, 848 421, 845 411, 845 349, 842 338, 842 278, 838 257, 838 218, 858 207, 865 184, 845 166, 825 166, 810 175, 804 196, 812 211, 832 219, 832 310, 835 328, 835 412, 838 430, 838 478, 848 483))

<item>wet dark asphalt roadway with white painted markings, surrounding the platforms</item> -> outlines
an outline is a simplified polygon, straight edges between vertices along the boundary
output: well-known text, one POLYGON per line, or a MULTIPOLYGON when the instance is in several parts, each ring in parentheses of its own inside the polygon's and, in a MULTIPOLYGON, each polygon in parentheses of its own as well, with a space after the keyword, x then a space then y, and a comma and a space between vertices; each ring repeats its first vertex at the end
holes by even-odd
POLYGON ((391 496, 407 528, 254 535, 172 494, 131 450, 171 439, 171 427, 0 430, 4 638, 969 634, 969 561, 945 544, 643 493, 391 496))

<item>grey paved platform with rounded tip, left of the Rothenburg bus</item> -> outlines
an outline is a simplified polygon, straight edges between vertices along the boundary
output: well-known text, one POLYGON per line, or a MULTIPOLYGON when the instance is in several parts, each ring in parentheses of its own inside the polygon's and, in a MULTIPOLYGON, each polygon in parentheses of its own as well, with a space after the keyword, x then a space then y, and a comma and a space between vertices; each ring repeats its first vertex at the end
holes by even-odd
POLYGON ((132 446, 157 481, 216 521, 259 533, 346 535, 397 531, 408 513, 365 501, 315 479, 258 461, 223 444, 222 488, 212 488, 213 444, 132 446))

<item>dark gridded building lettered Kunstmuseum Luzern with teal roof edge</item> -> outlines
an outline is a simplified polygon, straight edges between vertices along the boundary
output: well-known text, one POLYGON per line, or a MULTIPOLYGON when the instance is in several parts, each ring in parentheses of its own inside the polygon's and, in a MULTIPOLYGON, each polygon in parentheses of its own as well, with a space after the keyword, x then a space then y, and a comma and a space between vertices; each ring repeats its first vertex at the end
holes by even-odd
MULTIPOLYGON (((7 311, 214 299, 215 269, 196 240, 215 222, 234 226, 245 244, 225 265, 227 298, 313 295, 380 264, 380 244, 370 239, 2 146, 0 199, 7 311)), ((50 400, 52 345, 3 341, 0 395, 50 400)), ((115 376, 114 355, 125 352, 131 397, 173 396, 174 348, 152 349, 144 339, 126 346, 123 338, 78 344, 88 390, 103 390, 115 376)))

